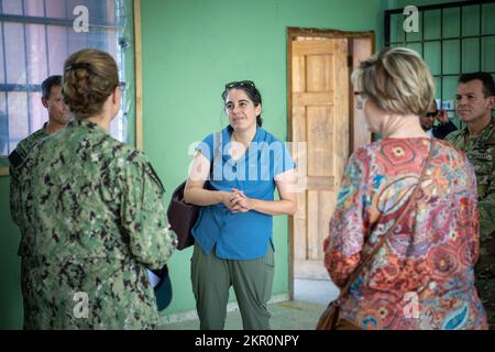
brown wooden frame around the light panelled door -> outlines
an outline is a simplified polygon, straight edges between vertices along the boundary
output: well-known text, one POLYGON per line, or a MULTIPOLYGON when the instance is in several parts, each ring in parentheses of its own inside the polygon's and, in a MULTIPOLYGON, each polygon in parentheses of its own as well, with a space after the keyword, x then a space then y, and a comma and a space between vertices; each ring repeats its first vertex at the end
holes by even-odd
MULTIPOLYGON (((322 29, 304 29, 304 28, 287 28, 287 141, 293 141, 293 40, 298 36, 312 36, 312 37, 326 37, 326 38, 370 38, 372 42, 372 53, 376 51, 376 36, 374 31, 367 32, 353 32, 353 31, 339 31, 339 30, 322 30, 322 29)), ((349 45, 350 52, 352 53, 352 46, 349 45)), ((350 79, 351 77, 349 77, 350 79)), ((352 87, 350 85, 349 87, 352 87)), ((352 146, 354 144, 354 138, 352 131, 354 131, 354 119, 353 117, 353 105, 351 103, 354 99, 352 89, 349 89, 349 153, 352 153, 352 146)), ((288 270, 288 282, 289 282, 289 299, 294 299, 294 216, 288 218, 288 234, 289 234, 289 270, 288 270)))

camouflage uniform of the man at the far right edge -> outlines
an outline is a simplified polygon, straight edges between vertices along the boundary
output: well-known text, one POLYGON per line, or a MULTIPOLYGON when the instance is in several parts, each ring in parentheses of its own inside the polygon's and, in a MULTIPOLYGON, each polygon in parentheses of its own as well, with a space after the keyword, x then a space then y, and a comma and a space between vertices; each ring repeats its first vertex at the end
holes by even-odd
POLYGON ((495 329, 495 119, 475 139, 468 130, 447 139, 466 153, 474 166, 480 199, 480 260, 474 267, 475 286, 486 309, 491 329, 495 329))

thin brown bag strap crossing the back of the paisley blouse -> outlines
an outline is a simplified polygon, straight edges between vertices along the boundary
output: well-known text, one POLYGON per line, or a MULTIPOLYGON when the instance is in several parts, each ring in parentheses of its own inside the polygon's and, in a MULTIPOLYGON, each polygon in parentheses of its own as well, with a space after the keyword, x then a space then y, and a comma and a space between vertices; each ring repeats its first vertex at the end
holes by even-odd
MULTIPOLYGON (((398 217, 398 219, 394 222, 394 224, 388 229, 388 231, 382 237, 382 239, 380 240, 380 242, 375 245, 375 248, 373 249, 373 251, 370 253, 370 255, 367 255, 365 258, 363 258, 360 263, 360 265, 358 266, 358 268, 352 273, 352 275, 349 277, 348 282, 345 283, 345 285, 342 287, 339 297, 337 298, 336 302, 337 305, 340 305, 340 300, 348 294, 349 288, 351 287, 351 285, 354 283, 354 280, 358 278, 358 276, 361 274, 361 272, 363 271, 363 268, 373 260, 373 257, 376 255, 376 253, 380 251, 380 249, 383 246, 383 244, 385 243, 385 241, 387 241, 391 235, 393 230, 395 229, 395 227, 400 223, 400 221, 404 219, 404 217, 406 216, 406 213, 408 213, 408 210, 410 208, 410 206, 413 205, 414 200, 417 198, 419 189, 421 188, 421 184, 425 179, 425 175, 426 175, 426 170, 428 168, 428 164, 431 161, 431 157, 433 155, 433 146, 435 146, 435 139, 431 139, 431 145, 430 145, 430 152, 428 154, 428 158, 425 163, 425 166, 422 167, 421 170, 421 176, 419 177, 418 184, 415 187, 415 190, 413 191, 413 195, 410 196, 409 200, 407 201, 406 207, 404 208, 403 212, 400 213, 400 216, 398 217)), ((330 302, 331 305, 332 302, 330 302)))

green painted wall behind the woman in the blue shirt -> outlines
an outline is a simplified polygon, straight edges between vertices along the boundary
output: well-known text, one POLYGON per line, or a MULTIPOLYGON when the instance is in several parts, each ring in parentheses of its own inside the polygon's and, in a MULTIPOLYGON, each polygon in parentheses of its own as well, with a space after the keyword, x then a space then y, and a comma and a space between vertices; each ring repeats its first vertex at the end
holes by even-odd
MULTIPOLYGON (((374 30, 381 45, 384 0, 142 0, 144 150, 168 197, 187 175, 189 145, 227 123, 227 81, 252 79, 263 95, 264 127, 287 138, 287 26, 374 30)), ((0 177, 0 329, 22 327, 19 230, 0 177)), ((288 293, 287 217, 274 221, 274 295, 288 293)), ((174 300, 167 314, 195 307, 191 250, 170 258, 174 300)))

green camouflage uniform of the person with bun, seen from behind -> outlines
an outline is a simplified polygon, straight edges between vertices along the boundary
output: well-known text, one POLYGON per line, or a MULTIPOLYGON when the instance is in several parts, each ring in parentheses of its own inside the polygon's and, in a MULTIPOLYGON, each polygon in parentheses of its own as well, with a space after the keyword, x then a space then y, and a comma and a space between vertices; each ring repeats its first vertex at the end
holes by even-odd
POLYGON ((162 267, 177 241, 146 157, 97 124, 72 121, 18 167, 24 327, 157 327, 145 268, 162 267))

